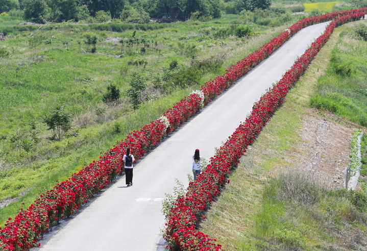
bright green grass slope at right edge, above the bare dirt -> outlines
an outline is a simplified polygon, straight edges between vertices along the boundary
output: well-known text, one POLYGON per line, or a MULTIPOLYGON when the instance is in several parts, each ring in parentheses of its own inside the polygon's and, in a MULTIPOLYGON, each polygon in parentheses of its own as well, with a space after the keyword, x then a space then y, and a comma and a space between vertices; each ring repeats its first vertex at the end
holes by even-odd
POLYGON ((367 41, 357 37, 355 28, 340 35, 330 67, 317 81, 311 106, 367 127, 367 41))

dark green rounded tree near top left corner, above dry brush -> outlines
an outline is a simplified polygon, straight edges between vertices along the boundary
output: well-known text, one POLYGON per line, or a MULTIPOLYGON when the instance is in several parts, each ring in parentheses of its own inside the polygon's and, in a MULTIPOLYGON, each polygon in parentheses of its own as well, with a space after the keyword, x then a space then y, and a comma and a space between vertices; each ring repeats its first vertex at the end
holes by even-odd
POLYGON ((47 4, 44 0, 25 0, 24 17, 27 21, 44 23, 47 4))

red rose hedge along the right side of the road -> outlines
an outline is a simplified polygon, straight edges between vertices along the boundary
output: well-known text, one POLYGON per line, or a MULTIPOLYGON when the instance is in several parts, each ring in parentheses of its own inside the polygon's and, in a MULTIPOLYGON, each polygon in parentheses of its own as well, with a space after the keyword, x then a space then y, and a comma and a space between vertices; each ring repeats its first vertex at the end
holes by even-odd
MULTIPOLYGON (((180 250, 218 250, 222 245, 214 243, 216 239, 195 229, 202 213, 212 200, 220 194, 219 188, 225 184, 226 175, 238 164, 239 158, 246 152, 249 144, 253 143, 275 111, 283 103, 289 89, 296 84, 312 59, 327 42, 334 28, 343 23, 360 19, 367 13, 363 8, 353 14, 339 17, 332 21, 323 35, 317 38, 306 52, 284 74, 283 78, 260 100, 254 104, 251 114, 241 123, 227 142, 210 158, 206 167, 196 181, 190 182, 185 197, 179 198, 170 211, 164 238, 167 247, 180 250)), ((228 180, 229 182, 229 180, 228 180)))

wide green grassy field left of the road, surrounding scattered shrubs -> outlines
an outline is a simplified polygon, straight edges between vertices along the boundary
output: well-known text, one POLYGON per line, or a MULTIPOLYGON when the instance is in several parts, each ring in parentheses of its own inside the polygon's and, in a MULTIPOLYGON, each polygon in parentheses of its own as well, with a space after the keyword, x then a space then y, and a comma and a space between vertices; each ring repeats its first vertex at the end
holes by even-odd
POLYGON ((0 30, 7 35, 0 41, 0 48, 10 53, 0 61, 0 135, 7 137, 0 141, 0 200, 8 202, 17 198, 0 209, 0 222, 30 205, 40 193, 54 186, 56 180, 67 179, 117 140, 158 118, 191 90, 222 74, 293 22, 291 19, 281 27, 271 28, 249 23, 239 15, 224 15, 207 22, 90 26, 59 23, 22 27, 18 26, 22 21, 19 18, 0 18, 5 23, 0 21, 0 30), (245 23, 252 28, 250 37, 238 38, 228 33, 229 29, 245 23), (116 27, 121 28, 121 32, 111 31, 116 27), (121 46, 106 39, 129 38, 134 31, 136 37, 150 40, 151 47, 144 54, 140 47, 131 51, 125 48, 121 58, 112 57, 121 54, 121 46), (97 52, 110 56, 86 53, 84 32, 95 33, 97 52), (162 78, 173 60, 181 67, 191 65, 192 55, 187 45, 195 46, 195 60, 219 64, 203 71, 197 83, 154 88, 153 77, 160 73, 162 78), (146 63, 139 64, 139 61, 146 63), (135 111, 126 96, 132 72, 142 74, 147 85, 146 101, 135 111), (109 84, 120 89, 121 102, 117 106, 102 102, 109 84), (51 133, 42 123, 42 116, 57 105, 64 105, 73 115, 75 135, 50 141, 47 137, 51 133), (32 121, 37 122, 39 142, 27 153, 11 139, 18 134, 31 137, 34 130, 29 123, 32 121))

